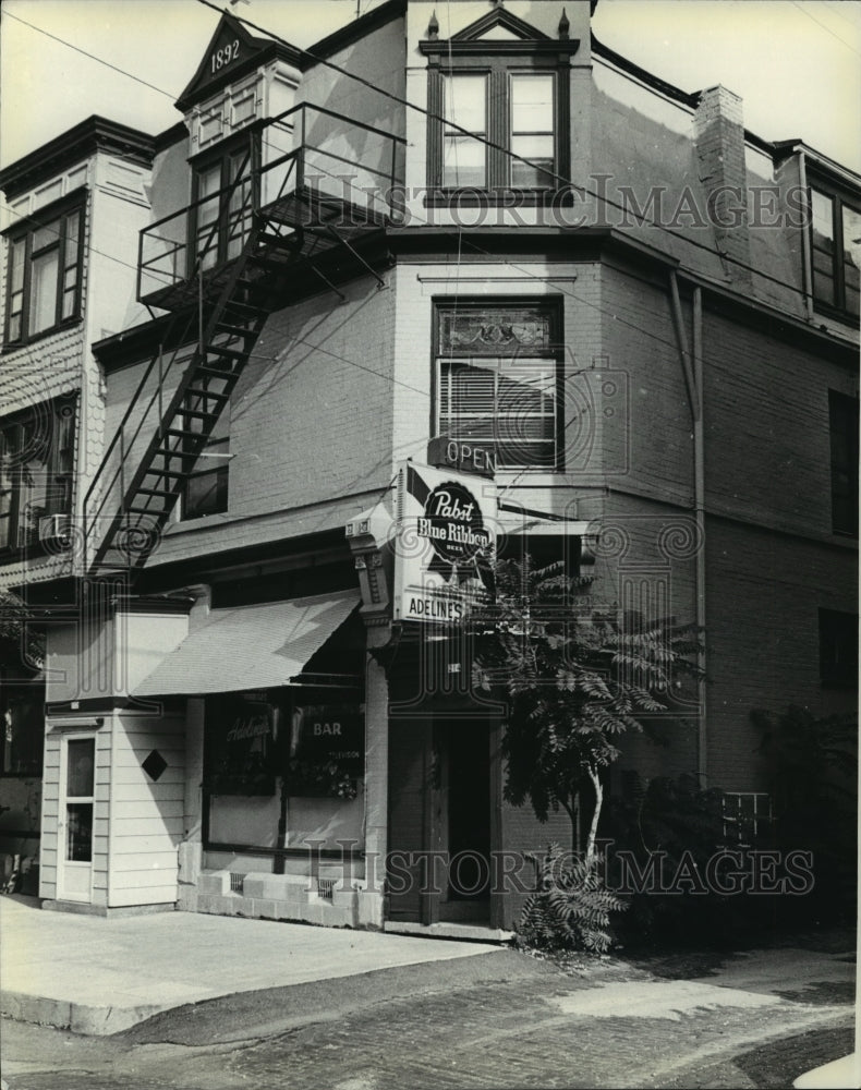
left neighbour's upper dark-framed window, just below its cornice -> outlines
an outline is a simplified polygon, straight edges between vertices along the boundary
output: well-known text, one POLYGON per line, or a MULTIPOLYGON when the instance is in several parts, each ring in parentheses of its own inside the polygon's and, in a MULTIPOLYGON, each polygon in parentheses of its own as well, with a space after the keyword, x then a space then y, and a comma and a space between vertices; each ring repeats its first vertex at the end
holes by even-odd
POLYGON ((39 214, 9 233, 5 343, 26 343, 81 315, 83 205, 39 214))

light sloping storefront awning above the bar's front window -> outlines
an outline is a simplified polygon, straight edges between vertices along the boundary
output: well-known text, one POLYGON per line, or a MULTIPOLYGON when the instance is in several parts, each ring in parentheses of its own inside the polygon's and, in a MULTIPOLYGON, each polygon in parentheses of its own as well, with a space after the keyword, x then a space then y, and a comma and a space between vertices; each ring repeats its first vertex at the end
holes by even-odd
POLYGON ((133 694, 196 697, 290 685, 359 602, 357 591, 342 591, 214 609, 133 694))

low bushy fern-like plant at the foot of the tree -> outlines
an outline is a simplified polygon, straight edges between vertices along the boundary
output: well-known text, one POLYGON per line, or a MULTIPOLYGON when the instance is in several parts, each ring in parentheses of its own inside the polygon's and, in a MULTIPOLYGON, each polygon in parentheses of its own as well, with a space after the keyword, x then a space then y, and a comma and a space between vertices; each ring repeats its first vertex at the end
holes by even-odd
POLYGON ((610 912, 626 905, 605 888, 601 857, 575 857, 551 843, 545 855, 531 858, 536 889, 523 906, 520 941, 538 949, 609 949, 610 912))

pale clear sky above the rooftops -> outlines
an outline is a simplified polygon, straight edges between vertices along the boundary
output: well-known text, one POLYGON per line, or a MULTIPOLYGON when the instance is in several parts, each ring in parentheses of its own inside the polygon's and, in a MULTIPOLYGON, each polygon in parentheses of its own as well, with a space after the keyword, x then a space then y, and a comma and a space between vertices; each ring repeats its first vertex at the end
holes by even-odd
MULTIPOLYGON (((357 4, 364 14, 380 2, 243 0, 230 10, 311 46, 357 4)), ((168 129, 217 23, 198 0, 2 0, 0 166, 92 113, 168 129)), ((599 0, 593 29, 682 90, 723 83, 759 136, 801 137, 861 172, 861 0, 599 0)))

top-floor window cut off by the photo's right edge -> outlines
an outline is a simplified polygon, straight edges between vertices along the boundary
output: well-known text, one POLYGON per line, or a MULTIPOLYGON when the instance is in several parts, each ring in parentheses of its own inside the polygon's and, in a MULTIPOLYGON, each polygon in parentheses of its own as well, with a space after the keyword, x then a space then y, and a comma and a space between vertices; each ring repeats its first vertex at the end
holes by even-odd
POLYGON ((810 199, 814 302, 858 317, 861 210, 817 189, 810 199))

